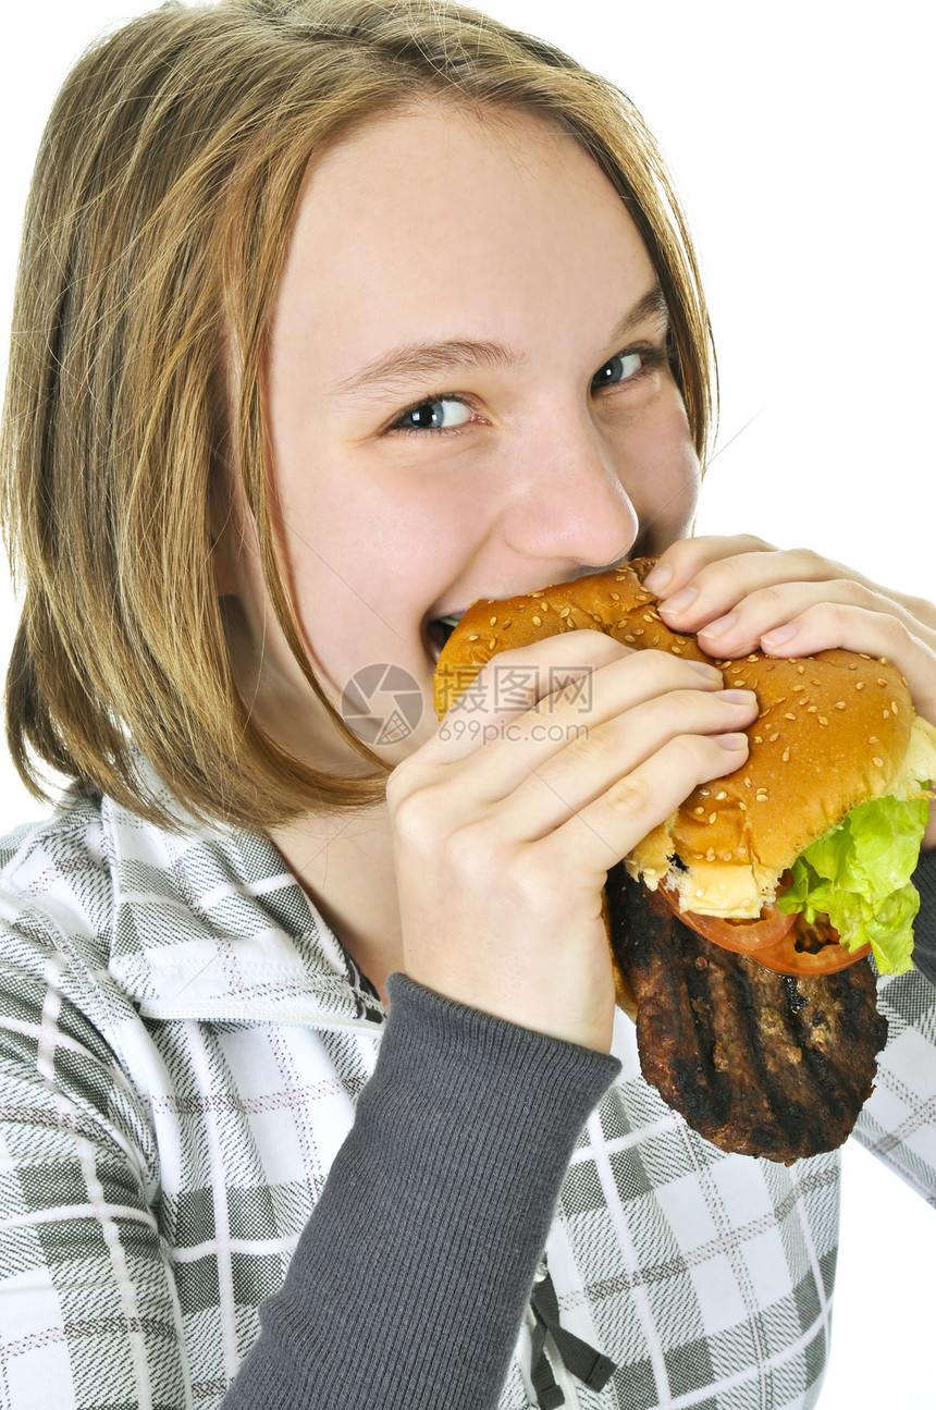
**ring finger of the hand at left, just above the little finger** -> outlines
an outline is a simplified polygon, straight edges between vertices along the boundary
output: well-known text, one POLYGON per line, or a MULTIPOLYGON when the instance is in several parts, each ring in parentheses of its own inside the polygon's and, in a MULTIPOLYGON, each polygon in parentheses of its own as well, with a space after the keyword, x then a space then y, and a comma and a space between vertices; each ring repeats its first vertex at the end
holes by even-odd
MULTIPOLYGON (((632 774, 672 739, 746 729, 757 718, 753 691, 671 691, 608 721, 585 726, 530 771, 499 809, 505 838, 538 840, 632 774)), ((510 726, 512 729, 519 729, 510 726)), ((536 728, 536 726, 534 726, 536 728)), ((689 784, 688 797, 695 784, 689 784)))

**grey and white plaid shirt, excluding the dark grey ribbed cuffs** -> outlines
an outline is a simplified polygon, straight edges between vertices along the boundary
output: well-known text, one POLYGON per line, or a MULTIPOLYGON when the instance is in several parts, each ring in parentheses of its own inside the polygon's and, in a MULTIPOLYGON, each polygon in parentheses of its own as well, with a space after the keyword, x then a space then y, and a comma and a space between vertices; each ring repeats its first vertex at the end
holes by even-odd
MULTIPOLYGON (((383 1010, 272 845, 99 797, 0 866, 0 1407, 217 1406, 374 1070, 383 1010)), ((891 1025, 858 1135, 936 1203, 936 990, 891 1025)), ((584 1410, 816 1403, 837 1153, 715 1149, 640 1077, 582 1134, 547 1244, 562 1324, 619 1371, 584 1410)), ((536 1403, 524 1327, 502 1410, 536 1403)), ((452 1407, 454 1410, 454 1407, 452 1407)))

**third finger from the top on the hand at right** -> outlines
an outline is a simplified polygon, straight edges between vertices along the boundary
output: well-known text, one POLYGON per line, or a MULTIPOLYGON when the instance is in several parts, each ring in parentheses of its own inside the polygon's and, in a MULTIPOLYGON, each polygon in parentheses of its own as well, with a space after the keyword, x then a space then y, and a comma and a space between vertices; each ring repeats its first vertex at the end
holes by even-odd
POLYGON ((758 588, 727 615, 701 626, 696 633, 699 644, 710 656, 723 657, 744 656, 761 646, 771 654, 811 656, 816 650, 826 650, 829 643, 803 647, 796 637, 798 626, 794 623, 794 618, 799 618, 809 608, 820 606, 823 602, 857 606, 868 613, 878 612, 892 616, 902 622, 909 632, 916 632, 923 640, 929 639, 936 646, 936 632, 922 625, 906 608, 849 578, 829 582, 781 582, 775 587, 758 588), (781 646, 782 651, 780 651, 781 646))

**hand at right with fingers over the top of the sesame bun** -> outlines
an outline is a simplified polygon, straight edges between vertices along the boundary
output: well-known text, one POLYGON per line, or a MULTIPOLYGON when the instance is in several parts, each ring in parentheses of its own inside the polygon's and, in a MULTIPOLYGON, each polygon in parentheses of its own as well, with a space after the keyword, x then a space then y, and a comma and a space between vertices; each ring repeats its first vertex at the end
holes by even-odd
MULTIPOLYGON (((936 725, 936 606, 923 598, 892 592, 808 548, 785 551, 740 536, 678 540, 646 587, 661 598, 667 626, 695 632, 716 657, 756 649, 815 656, 832 647, 885 656, 904 673, 918 715, 936 725)), ((936 846, 932 807, 923 846, 936 846)))

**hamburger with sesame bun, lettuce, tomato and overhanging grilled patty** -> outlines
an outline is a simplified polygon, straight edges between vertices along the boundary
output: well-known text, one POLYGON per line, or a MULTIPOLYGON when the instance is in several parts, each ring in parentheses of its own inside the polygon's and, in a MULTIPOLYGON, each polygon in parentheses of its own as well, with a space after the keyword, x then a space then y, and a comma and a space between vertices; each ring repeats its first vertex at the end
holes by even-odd
POLYGON ((887 1036, 867 956, 880 973, 912 964, 936 729, 887 660, 709 657, 661 620, 643 587, 654 561, 447 619, 436 712, 496 653, 582 627, 715 660, 756 692, 743 767, 695 788, 608 874, 617 1001, 644 1077, 708 1139, 782 1160, 833 1149, 887 1036))

